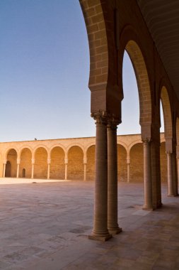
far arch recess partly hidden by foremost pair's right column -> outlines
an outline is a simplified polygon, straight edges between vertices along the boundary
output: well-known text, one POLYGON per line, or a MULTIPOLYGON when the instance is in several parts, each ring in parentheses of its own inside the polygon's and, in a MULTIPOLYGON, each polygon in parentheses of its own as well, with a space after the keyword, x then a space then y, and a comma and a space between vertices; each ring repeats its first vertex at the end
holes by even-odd
POLYGON ((117 144, 117 180, 127 182, 127 151, 120 144, 117 144))

